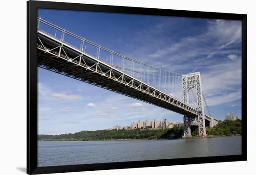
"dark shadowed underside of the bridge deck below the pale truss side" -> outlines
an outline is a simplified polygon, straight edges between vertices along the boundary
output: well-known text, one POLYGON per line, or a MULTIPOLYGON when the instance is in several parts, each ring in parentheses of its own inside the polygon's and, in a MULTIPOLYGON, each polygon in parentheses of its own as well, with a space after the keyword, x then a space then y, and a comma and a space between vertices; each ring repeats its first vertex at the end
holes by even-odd
MULTIPOLYGON (((45 35, 44 37, 47 37, 47 35, 45 35)), ((59 44, 61 44, 61 42, 59 44)), ((72 50, 72 47, 71 47, 71 50, 72 50)), ((153 104, 155 106, 159 106, 159 107, 174 111, 176 113, 181 113, 182 115, 191 115, 190 112, 186 113, 184 112, 184 110, 180 109, 180 107, 174 106, 163 99, 152 97, 152 95, 148 93, 141 92, 141 90, 138 90, 135 88, 133 89, 132 87, 124 85, 119 81, 117 81, 118 83, 115 83, 116 80, 113 80, 108 77, 106 78, 105 76, 102 76, 101 74, 98 74, 95 71, 92 72, 89 69, 84 69, 84 68, 81 69, 77 65, 73 64, 72 62, 68 62, 67 59, 57 60, 56 56, 54 57, 52 53, 47 51, 48 50, 43 50, 42 48, 38 47, 38 66, 41 68, 54 71, 61 75, 66 75, 80 81, 85 81, 95 86, 105 88, 105 89, 114 91, 116 93, 123 94, 128 97, 132 97, 137 100, 141 100, 149 104, 153 104), (65 67, 63 68, 63 66, 61 66, 60 64, 63 64, 66 66, 69 65, 70 67, 72 67, 72 69, 63 70, 65 69, 65 67), (82 74, 77 75, 77 72, 82 74)), ((210 120, 209 118, 210 118, 209 116, 206 116, 205 119, 210 120)))

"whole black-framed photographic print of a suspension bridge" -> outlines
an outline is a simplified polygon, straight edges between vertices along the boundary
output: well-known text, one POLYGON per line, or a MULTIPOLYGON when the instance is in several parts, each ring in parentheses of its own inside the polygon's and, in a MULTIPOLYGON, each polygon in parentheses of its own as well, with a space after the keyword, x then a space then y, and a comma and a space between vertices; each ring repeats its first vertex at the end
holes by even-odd
POLYGON ((27 174, 245 161, 246 27, 27 1, 27 174))

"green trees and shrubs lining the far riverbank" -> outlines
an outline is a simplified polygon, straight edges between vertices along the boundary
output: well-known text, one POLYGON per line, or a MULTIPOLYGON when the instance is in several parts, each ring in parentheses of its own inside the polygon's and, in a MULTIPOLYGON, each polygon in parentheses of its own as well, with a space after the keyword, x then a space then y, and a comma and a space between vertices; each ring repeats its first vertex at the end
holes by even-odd
MULTIPOLYGON (((236 121, 224 120, 213 128, 206 128, 209 136, 231 136, 242 134, 242 120, 236 121)), ((74 134, 61 135, 38 135, 38 140, 45 141, 88 141, 88 140, 131 140, 131 139, 178 139, 182 138, 183 127, 174 127, 171 129, 135 129, 135 130, 97 130, 97 131, 80 131, 74 134)), ((197 136, 197 126, 191 126, 192 136, 197 136)))

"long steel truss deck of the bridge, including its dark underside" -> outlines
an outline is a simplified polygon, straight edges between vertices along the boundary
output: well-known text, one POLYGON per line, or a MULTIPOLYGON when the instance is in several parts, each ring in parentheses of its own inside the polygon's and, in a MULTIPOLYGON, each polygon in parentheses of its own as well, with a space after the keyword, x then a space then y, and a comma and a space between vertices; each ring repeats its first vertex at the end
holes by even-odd
MULTIPOLYGON (((61 41, 52 40, 47 35, 38 34, 37 63, 38 67, 54 71, 61 75, 84 81, 95 86, 132 97, 149 104, 159 106, 182 115, 196 117, 194 109, 188 108, 180 101, 166 99, 166 95, 150 88, 135 79, 125 76, 111 66, 95 61, 95 58, 81 53, 61 41), (55 48, 55 49, 54 49, 55 48), (71 59, 72 58, 72 59, 71 59), (83 65, 83 66, 81 66, 83 65), (122 81, 121 81, 122 80, 122 81), (182 107, 181 107, 182 106, 182 107), (192 111, 191 111, 192 110, 192 111)), ((210 117, 206 116, 206 120, 210 117)))

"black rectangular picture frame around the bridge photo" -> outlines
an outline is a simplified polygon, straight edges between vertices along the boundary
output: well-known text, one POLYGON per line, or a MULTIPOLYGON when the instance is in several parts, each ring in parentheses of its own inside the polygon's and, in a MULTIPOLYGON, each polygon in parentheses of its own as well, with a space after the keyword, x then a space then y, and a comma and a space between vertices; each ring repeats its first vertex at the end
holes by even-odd
POLYGON ((157 167, 211 162, 247 160, 247 15, 219 12, 196 12, 126 6, 106 6, 49 1, 27 1, 27 174, 46 174, 103 169, 157 167), (37 166, 37 9, 62 9, 93 12, 132 13, 208 19, 232 19, 242 21, 242 154, 234 156, 210 156, 148 160, 135 162, 111 162, 65 166, 37 166))

